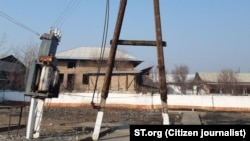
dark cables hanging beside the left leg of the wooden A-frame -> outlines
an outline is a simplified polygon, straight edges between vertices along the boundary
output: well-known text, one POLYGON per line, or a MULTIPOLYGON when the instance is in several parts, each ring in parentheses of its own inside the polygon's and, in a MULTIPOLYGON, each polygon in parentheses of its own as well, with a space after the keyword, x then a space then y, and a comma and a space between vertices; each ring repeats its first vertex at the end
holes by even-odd
POLYGON ((105 20, 104 20, 104 30, 103 30, 103 37, 102 37, 101 52, 100 52, 100 58, 99 58, 99 61, 98 61, 98 68, 97 68, 97 75, 96 75, 96 81, 95 81, 93 96, 92 96, 92 100, 91 100, 91 105, 92 105, 93 108, 97 108, 95 106, 95 103, 94 103, 94 97, 95 97, 95 92, 96 92, 96 89, 97 89, 97 82, 98 82, 99 74, 100 74, 100 71, 101 71, 101 64, 103 62, 105 46, 106 46, 106 42, 107 42, 108 23, 109 23, 109 0, 106 1, 106 12, 105 12, 105 20))

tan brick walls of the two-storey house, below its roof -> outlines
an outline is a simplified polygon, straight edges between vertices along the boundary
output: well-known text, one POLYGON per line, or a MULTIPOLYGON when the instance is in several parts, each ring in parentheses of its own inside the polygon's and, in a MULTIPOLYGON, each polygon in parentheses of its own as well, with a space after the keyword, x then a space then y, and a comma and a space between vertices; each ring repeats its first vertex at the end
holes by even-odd
MULTIPOLYGON (((60 74, 63 74, 63 81, 61 83, 61 91, 69 90, 70 85, 74 85, 72 92, 84 92, 93 91, 95 89, 96 74, 98 69, 98 63, 95 60, 75 60, 75 67, 68 68, 68 63, 71 60, 58 60, 57 67, 60 74), (83 75, 89 75, 88 84, 83 84, 83 75), (69 75, 74 75, 74 84, 69 82, 69 75)), ((105 62, 101 63, 103 66, 107 66, 105 62)), ((116 71, 131 71, 133 70, 133 64, 131 62, 116 62, 114 70, 116 71)), ((101 72, 105 72, 106 68, 102 67, 101 72)), ((135 78, 134 74, 115 74, 112 76, 110 83, 110 91, 129 91, 135 92, 135 78)), ((101 91, 104 83, 104 73, 99 74, 96 91, 101 91)))

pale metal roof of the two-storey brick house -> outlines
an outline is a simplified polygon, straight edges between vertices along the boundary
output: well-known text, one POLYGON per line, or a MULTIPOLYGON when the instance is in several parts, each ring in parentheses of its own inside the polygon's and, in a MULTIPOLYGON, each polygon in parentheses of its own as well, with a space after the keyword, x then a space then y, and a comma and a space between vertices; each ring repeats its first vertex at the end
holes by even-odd
MULTIPOLYGON (((110 48, 105 47, 103 59, 107 60, 109 57, 110 48)), ((81 60, 96 60, 100 58, 101 48, 100 47, 78 47, 66 51, 56 53, 58 59, 81 59, 81 60)), ((142 60, 131 56, 125 52, 116 51, 116 60, 129 60, 129 61, 140 61, 142 60)))

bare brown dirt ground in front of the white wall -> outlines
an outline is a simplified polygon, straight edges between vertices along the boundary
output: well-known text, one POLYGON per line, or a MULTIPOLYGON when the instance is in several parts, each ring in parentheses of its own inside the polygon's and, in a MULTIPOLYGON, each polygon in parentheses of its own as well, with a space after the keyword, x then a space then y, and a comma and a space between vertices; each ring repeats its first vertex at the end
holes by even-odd
MULTIPOLYGON (((0 109, 0 140, 22 140, 25 141, 26 123, 28 119, 29 107, 25 107, 22 112, 21 126, 17 126, 19 121, 20 108, 13 108, 11 117, 10 109, 0 109), (9 126, 10 125, 10 126, 9 126)), ((89 134, 93 127, 83 129, 80 124, 85 122, 95 122, 97 110, 90 107, 66 108, 66 107, 44 107, 41 123, 41 134, 39 140, 75 140, 79 134, 89 134)), ((250 113, 246 112, 215 112, 215 111, 195 111, 199 114, 202 125, 220 124, 250 124, 250 113)), ((170 110, 169 118, 171 125, 180 125, 183 111, 170 110)), ((102 121, 103 126, 109 123, 119 124, 162 124, 160 109, 136 110, 136 109, 109 109, 104 111, 102 121)), ((33 140, 33 139, 32 139, 33 140)))

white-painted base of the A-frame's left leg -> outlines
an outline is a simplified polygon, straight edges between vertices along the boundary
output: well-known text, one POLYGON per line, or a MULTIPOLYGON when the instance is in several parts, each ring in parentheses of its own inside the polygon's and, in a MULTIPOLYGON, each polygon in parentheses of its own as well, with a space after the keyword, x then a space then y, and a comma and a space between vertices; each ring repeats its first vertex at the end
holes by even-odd
POLYGON ((99 138, 99 133, 100 133, 101 124, 102 124, 102 118, 103 118, 103 111, 99 111, 97 113, 96 122, 95 122, 95 129, 94 129, 94 132, 92 135, 92 139, 94 141, 97 141, 99 138))

